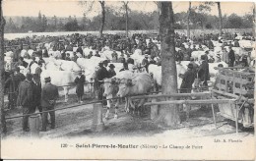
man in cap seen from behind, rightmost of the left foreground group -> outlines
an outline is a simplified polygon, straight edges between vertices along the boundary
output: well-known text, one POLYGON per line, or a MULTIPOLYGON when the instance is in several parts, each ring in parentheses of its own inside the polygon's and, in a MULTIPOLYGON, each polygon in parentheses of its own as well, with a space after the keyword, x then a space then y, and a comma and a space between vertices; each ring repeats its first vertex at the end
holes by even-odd
MULTIPOLYGON (((58 87, 51 83, 50 77, 45 78, 44 81, 45 81, 45 85, 43 85, 41 89, 42 112, 53 110, 56 99, 59 96, 58 87)), ((46 132, 48 113, 50 115, 51 129, 55 128, 55 112, 54 111, 44 112, 42 114, 42 129, 41 129, 42 132, 46 132)))

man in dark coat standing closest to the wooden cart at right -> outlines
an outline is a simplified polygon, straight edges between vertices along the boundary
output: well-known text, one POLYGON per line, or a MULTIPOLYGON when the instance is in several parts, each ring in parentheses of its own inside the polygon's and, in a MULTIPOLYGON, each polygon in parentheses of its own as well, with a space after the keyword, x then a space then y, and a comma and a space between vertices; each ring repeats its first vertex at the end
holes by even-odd
POLYGON ((203 85, 208 86, 207 80, 209 80, 209 64, 206 61, 205 55, 201 56, 201 60, 203 62, 198 69, 198 78, 199 80, 203 81, 203 85))

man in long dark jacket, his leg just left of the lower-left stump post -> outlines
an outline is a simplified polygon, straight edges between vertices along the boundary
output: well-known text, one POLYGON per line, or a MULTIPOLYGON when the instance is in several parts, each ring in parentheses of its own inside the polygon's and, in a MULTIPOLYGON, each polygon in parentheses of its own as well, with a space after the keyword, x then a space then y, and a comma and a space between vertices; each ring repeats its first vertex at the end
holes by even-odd
MULTIPOLYGON (((17 106, 22 106, 23 115, 32 113, 32 75, 27 74, 26 80, 19 85, 19 93, 17 97, 17 106)), ((29 132, 29 116, 23 117, 23 131, 29 132)))

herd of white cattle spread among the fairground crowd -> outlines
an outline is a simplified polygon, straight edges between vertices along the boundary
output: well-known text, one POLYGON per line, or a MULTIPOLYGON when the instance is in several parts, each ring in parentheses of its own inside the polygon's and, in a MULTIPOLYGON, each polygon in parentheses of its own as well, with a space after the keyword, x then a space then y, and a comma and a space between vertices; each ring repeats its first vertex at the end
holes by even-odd
MULTIPOLYGON (((149 41, 149 40, 148 40, 149 41)), ((148 42, 147 41, 147 42, 148 42)), ((159 46, 160 48, 160 42, 154 42, 159 46)), ((232 41, 233 43, 233 41, 232 41)), ((255 61, 255 42, 250 40, 239 40, 239 47, 232 47, 234 50, 234 53, 241 56, 241 55, 248 55, 248 52, 246 48, 252 48, 252 51, 250 51, 250 60, 252 62, 252 65, 254 65, 255 61), (254 63, 253 63, 254 62, 254 63)), ((191 47, 193 45, 193 41, 189 41, 186 43, 183 43, 185 48, 191 47)), ((213 41, 214 49, 209 49, 207 46, 202 45, 201 50, 193 51, 191 53, 191 57, 194 58, 195 63, 200 65, 200 57, 201 55, 205 55, 206 51, 209 52, 208 56, 214 57, 215 62, 209 63, 209 71, 211 79, 210 81, 214 82, 216 74, 218 73, 218 70, 215 68, 218 67, 220 64, 223 65, 223 67, 227 67, 227 63, 224 62, 222 59, 218 61, 218 56, 221 56, 222 58, 222 46, 223 43, 220 43, 219 41, 213 41)), ((111 50, 108 46, 104 46, 101 51, 98 52, 99 57, 96 56, 96 50, 90 48, 90 47, 83 47, 83 53, 76 53, 77 47, 73 48, 74 52, 67 51, 66 54, 69 54, 71 58, 74 57, 74 53, 76 53, 76 56, 78 57, 76 61, 67 61, 62 60, 61 58, 61 52, 60 51, 53 51, 51 48, 50 43, 44 44, 45 49, 48 50, 49 57, 42 58, 45 63, 42 64, 40 67, 42 72, 40 74, 40 80, 41 83, 44 84, 44 78, 50 77, 51 82, 57 86, 63 87, 64 89, 64 95, 65 95, 65 101, 68 100, 68 94, 70 85, 74 84, 74 80, 78 76, 78 72, 83 71, 84 75, 86 76, 87 82, 92 82, 96 79, 96 71, 98 70, 98 63, 103 62, 104 60, 108 60, 111 64, 115 66, 115 73, 116 76, 113 78, 105 79, 104 81, 104 93, 103 95, 106 96, 106 98, 110 99, 112 97, 125 97, 128 95, 134 95, 134 94, 142 94, 147 93, 152 90, 153 86, 161 86, 161 66, 156 64, 150 64, 148 67, 148 73, 146 70, 138 70, 138 67, 141 67, 143 59, 145 59, 143 52, 140 48, 137 48, 133 51, 133 53, 130 55, 132 59, 134 59, 134 64, 129 64, 127 71, 120 70, 123 68, 122 63, 113 63, 112 59, 112 53, 113 50, 111 50), (92 54, 90 58, 88 56, 92 54)), ((198 44, 195 44, 196 48, 199 48, 198 44)), ((226 48, 228 46, 225 46, 226 48)), ((176 48, 176 50, 180 50, 179 48, 176 48)), ((228 52, 228 48, 227 48, 228 52)), ((123 55, 124 58, 127 58, 127 55, 122 54, 119 51, 115 51, 117 54, 117 57, 120 57, 123 55)), ((32 62, 32 59, 26 59, 28 55, 32 57, 33 51, 30 50, 22 50, 21 56, 24 57, 24 61, 26 61, 28 64, 32 62)), ((5 61, 6 65, 8 63, 12 62, 12 52, 6 52, 5 53, 5 61)), ((38 58, 36 58, 37 60, 38 58)), ((160 59, 160 57, 159 57, 160 59)), ((180 74, 184 74, 187 71, 187 65, 190 63, 190 61, 181 61, 176 62, 176 72, 177 72, 177 84, 178 87, 180 86, 182 79, 178 76, 180 74)), ((20 66, 21 72, 23 74, 31 73, 34 74, 36 68, 38 68, 39 65, 36 63, 33 63, 31 68, 25 68, 23 66, 20 66)), ((108 67, 106 67, 108 68, 108 67)), ((171 83, 171 82, 169 82, 171 83)), ((88 84, 85 84, 86 87, 90 86, 88 84)), ((91 86, 93 87, 93 86, 91 86)), ((139 103, 139 107, 143 105, 145 100, 141 100, 139 103)), ((115 105, 115 118, 117 117, 117 107, 120 100, 117 101, 117 104, 115 105)), ((133 107, 135 109, 135 105, 131 100, 126 100, 125 109, 128 112, 129 107, 133 107)), ((109 108, 111 106, 111 101, 107 101, 107 113, 105 115, 106 118, 108 118, 109 115, 109 108)))

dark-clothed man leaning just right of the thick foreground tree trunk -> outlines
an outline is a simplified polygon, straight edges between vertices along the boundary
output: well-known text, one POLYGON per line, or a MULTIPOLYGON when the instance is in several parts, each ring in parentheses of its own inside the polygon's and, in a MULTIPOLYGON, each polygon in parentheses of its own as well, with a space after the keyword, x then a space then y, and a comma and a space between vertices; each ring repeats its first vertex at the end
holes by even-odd
POLYGON ((195 80, 195 74, 193 73, 193 65, 188 64, 188 70, 184 73, 184 75, 179 74, 179 77, 182 78, 182 82, 180 85, 181 93, 191 93, 192 84, 195 80))

